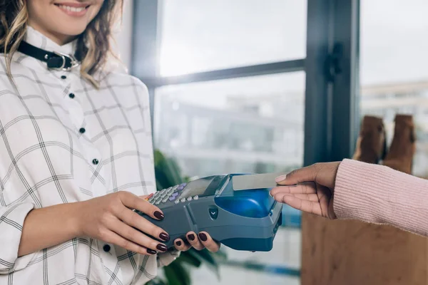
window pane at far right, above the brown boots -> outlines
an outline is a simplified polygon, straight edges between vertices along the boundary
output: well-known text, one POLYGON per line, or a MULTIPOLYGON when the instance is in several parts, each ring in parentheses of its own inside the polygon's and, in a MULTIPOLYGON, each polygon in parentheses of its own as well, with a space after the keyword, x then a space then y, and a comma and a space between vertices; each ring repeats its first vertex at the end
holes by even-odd
POLYGON ((388 141, 394 116, 413 114, 417 128, 414 175, 428 176, 428 2, 361 1, 362 115, 384 118, 388 141))

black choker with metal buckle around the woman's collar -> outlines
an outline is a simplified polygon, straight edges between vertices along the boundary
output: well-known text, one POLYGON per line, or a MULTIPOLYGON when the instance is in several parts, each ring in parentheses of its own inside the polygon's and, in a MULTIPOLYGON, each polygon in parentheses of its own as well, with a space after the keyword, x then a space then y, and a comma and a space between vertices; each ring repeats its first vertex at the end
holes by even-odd
POLYGON ((45 51, 44 49, 36 48, 36 46, 31 46, 31 44, 26 41, 21 41, 18 51, 32 58, 39 59, 39 61, 46 62, 49 69, 57 71, 69 71, 71 68, 79 65, 74 56, 57 53, 55 51, 45 51))

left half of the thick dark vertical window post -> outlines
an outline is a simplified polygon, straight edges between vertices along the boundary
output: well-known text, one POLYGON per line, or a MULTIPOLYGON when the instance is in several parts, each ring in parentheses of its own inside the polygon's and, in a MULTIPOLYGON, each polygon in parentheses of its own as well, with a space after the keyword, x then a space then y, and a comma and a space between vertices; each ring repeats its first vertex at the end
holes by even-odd
POLYGON ((331 96, 325 63, 332 46, 331 14, 332 0, 307 0, 304 165, 330 158, 331 96))

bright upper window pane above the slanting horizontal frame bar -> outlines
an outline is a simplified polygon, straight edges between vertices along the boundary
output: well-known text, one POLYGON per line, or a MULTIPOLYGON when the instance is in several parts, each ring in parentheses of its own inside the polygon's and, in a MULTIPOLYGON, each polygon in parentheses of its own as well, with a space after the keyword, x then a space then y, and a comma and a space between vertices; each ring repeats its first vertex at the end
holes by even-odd
POLYGON ((161 1, 161 76, 306 56, 306 1, 161 1))

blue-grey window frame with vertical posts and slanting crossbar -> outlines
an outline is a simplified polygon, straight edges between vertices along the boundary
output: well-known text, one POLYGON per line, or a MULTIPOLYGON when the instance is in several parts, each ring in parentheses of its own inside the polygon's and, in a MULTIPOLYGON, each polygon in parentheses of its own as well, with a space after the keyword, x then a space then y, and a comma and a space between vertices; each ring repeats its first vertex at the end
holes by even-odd
POLYGON ((161 4, 133 1, 131 74, 148 86, 152 130, 158 87, 305 71, 304 165, 352 157, 360 128, 360 0, 307 0, 306 58, 170 77, 159 76, 161 4))

